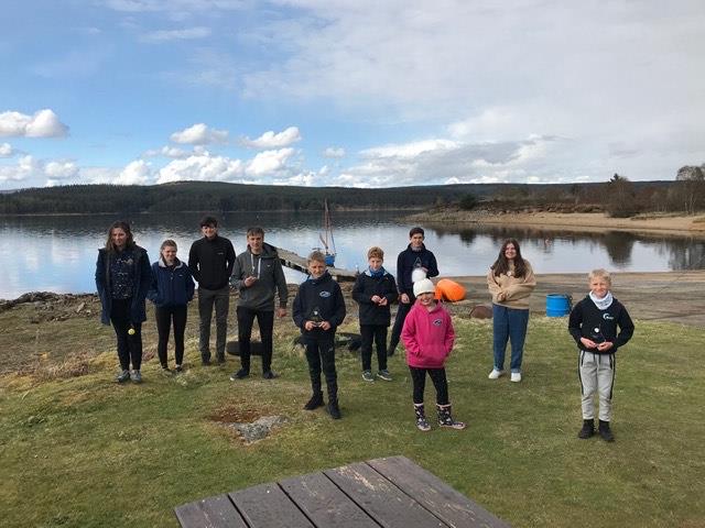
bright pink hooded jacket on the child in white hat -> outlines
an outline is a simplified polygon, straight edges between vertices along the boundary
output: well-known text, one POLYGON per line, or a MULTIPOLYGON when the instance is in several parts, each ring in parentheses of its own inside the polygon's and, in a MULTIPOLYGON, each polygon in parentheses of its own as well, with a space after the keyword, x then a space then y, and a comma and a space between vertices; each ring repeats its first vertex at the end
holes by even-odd
POLYGON ((401 339, 409 366, 442 369, 455 341, 451 316, 441 302, 429 311, 416 301, 404 320, 401 339))

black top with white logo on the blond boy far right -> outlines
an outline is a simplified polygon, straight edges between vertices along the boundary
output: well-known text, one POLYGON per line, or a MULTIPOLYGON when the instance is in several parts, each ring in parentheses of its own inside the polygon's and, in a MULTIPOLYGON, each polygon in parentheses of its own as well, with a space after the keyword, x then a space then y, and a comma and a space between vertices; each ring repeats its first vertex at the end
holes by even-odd
POLYGON ((587 350, 587 352, 596 354, 614 354, 619 346, 627 344, 627 341, 631 339, 634 333, 634 323, 631 322, 627 308, 617 299, 612 300, 609 308, 600 310, 595 306, 593 299, 586 296, 571 311, 568 332, 577 343, 578 350, 587 350), (617 329, 619 329, 619 333, 617 333, 617 329), (596 343, 610 341, 614 346, 604 352, 597 349, 589 350, 581 343, 581 338, 590 339, 596 343))

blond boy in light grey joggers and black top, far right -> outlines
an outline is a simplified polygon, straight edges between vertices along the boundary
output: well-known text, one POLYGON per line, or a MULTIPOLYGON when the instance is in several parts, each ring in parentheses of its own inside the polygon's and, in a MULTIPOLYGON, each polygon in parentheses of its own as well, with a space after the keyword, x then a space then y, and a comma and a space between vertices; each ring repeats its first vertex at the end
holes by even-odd
POLYGON ((595 435, 595 406, 593 395, 599 394, 599 436, 607 442, 615 441, 609 422, 612 417, 612 386, 615 354, 627 344, 634 332, 631 318, 609 288, 611 278, 605 270, 594 270, 588 275, 590 293, 581 300, 568 319, 568 331, 579 351, 578 375, 583 395, 583 428, 578 438, 595 435), (619 329, 619 333, 617 333, 619 329))

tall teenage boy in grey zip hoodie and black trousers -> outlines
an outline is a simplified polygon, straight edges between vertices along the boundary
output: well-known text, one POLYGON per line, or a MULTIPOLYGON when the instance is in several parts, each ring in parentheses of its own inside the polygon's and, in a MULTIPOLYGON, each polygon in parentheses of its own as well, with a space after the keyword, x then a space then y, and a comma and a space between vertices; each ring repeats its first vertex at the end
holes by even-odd
POLYGON ((257 318, 262 340, 262 377, 272 380, 272 334, 274 332, 274 292, 279 295, 276 315, 286 315, 289 292, 284 271, 276 248, 264 243, 264 230, 260 227, 247 230, 247 250, 235 263, 230 284, 240 293, 238 300, 238 341, 242 367, 230 380, 243 380, 250 375, 250 339, 257 318))

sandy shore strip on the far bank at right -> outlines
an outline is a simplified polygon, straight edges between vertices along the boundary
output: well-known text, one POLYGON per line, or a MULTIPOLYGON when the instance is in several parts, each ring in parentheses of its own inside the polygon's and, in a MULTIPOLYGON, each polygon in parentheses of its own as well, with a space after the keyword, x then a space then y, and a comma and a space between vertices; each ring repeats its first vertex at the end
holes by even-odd
POLYGON ((426 224, 502 224, 528 226, 562 230, 644 231, 693 234, 705 237, 705 215, 674 217, 666 215, 638 216, 633 218, 611 218, 601 212, 506 212, 488 211, 438 211, 421 212, 408 217, 410 221, 426 224))

